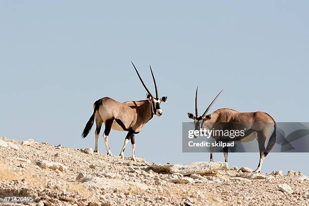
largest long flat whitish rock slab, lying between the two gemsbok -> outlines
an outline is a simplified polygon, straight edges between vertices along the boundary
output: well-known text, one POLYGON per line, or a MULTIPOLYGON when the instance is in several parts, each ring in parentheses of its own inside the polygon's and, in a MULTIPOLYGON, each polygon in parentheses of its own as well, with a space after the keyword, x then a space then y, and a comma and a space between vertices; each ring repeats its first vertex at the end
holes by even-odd
POLYGON ((227 170, 228 164, 224 162, 195 162, 188 165, 174 165, 170 168, 170 173, 180 173, 182 175, 205 174, 216 170, 227 170))

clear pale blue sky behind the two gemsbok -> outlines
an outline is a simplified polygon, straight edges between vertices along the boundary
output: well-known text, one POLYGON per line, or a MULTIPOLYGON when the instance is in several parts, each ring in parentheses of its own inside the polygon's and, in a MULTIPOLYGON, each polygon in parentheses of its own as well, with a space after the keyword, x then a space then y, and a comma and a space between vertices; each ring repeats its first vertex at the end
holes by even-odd
MULTIPOLYGON (((147 161, 209 161, 209 153, 181 151, 197 85, 200 112, 225 89, 210 112, 265 111, 278 122, 308 122, 308 9, 307 1, 2 1, 0 136, 93 148, 94 128, 80 136, 95 100, 145 98, 130 61, 154 91, 150 64, 168 96, 163 116, 136 135, 135 154, 147 161)), ((125 135, 111 132, 114 155, 125 135)), ((99 151, 106 152, 101 135, 99 151)), ((262 171, 308 175, 308 158, 271 153, 262 171)), ((229 156, 230 167, 258 162, 257 153, 229 156)))

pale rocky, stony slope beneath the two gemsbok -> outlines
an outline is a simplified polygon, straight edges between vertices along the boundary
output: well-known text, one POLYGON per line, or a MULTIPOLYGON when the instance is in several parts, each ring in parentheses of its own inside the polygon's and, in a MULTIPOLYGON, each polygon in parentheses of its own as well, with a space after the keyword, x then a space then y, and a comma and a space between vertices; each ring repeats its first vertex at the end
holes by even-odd
POLYGON ((91 148, 0 138, 0 205, 309 205, 309 178, 300 172, 227 167, 132 162, 91 148))

